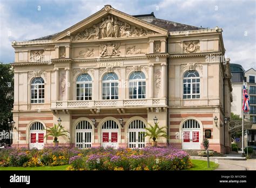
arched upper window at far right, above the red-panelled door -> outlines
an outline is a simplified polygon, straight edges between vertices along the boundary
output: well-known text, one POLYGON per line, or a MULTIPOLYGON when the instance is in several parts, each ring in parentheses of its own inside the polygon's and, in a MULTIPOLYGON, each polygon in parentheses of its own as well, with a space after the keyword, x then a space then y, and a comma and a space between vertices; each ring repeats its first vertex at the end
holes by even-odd
POLYGON ((200 98, 200 77, 197 71, 186 71, 183 76, 183 99, 200 98))

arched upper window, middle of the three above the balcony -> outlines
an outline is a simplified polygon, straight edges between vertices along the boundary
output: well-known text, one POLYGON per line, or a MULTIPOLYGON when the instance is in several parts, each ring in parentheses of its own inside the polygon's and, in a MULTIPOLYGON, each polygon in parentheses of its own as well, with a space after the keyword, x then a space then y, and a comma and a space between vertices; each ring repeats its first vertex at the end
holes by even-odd
POLYGON ((103 76, 102 99, 118 99, 118 77, 115 73, 103 76))

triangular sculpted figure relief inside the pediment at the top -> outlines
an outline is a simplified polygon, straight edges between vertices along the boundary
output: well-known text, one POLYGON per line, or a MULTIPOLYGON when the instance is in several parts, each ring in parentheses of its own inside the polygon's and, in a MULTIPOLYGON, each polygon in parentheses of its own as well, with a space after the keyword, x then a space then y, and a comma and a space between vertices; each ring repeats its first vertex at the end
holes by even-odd
POLYGON ((136 27, 123 22, 118 17, 108 15, 101 19, 101 22, 92 27, 76 33, 72 36, 73 40, 97 40, 120 37, 143 37, 157 34, 157 32, 136 27))

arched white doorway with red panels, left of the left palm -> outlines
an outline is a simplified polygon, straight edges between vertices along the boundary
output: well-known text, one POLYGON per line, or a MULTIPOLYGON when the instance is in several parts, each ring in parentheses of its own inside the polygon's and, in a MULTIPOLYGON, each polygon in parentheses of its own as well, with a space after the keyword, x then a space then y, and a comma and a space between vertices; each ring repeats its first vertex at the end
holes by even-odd
POLYGON ((29 129, 29 148, 43 149, 44 148, 45 128, 43 123, 35 122, 31 124, 29 129))

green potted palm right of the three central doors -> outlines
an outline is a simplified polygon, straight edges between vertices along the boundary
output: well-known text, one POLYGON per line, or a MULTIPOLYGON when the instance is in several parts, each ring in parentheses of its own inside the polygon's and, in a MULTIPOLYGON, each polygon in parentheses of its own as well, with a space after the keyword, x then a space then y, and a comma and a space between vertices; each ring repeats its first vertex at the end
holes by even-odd
MULTIPOLYGON (((164 129, 166 129, 166 127, 159 127, 158 126, 158 122, 154 123, 154 126, 152 126, 150 123, 148 123, 150 127, 146 127, 146 133, 145 136, 149 136, 150 139, 152 139, 152 146, 156 147, 157 146, 157 139, 160 137, 165 137, 168 138, 166 131, 164 129)), ((143 134, 143 133, 142 133, 143 134)))

